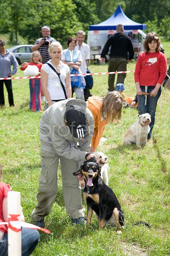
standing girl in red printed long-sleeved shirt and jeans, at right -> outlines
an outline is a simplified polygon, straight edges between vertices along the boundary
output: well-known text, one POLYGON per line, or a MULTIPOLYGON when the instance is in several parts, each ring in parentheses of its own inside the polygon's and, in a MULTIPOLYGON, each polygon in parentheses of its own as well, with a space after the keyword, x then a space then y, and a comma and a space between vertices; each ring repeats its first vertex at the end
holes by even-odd
POLYGON ((155 124, 157 102, 162 91, 161 85, 166 76, 167 59, 160 52, 160 39, 154 32, 146 35, 144 48, 145 52, 140 53, 136 63, 135 84, 139 115, 145 113, 151 115, 151 130, 147 135, 150 139, 155 124), (145 96, 142 92, 151 93, 151 95, 145 96))

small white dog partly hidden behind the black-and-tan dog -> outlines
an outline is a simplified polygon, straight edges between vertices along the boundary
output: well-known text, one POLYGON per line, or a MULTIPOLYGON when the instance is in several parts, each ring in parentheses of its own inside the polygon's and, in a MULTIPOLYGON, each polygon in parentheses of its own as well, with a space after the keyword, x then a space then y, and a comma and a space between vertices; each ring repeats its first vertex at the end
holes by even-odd
POLYGON ((108 170, 109 165, 107 161, 107 156, 104 155, 102 152, 94 152, 94 155, 98 158, 98 163, 101 166, 101 179, 106 185, 109 185, 109 178, 108 178, 108 170))

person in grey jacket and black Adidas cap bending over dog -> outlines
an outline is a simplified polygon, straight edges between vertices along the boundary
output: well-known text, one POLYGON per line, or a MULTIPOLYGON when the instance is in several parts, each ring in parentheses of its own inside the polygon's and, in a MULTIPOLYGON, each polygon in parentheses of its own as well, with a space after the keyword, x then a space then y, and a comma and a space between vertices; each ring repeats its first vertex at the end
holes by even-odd
POLYGON ((42 168, 38 203, 32 212, 35 225, 45 227, 44 218, 50 213, 57 195, 59 160, 66 212, 74 225, 86 223, 80 182, 72 173, 80 168, 85 159, 95 157, 87 154, 91 147, 93 129, 93 115, 82 100, 62 100, 43 113, 39 124, 42 168))

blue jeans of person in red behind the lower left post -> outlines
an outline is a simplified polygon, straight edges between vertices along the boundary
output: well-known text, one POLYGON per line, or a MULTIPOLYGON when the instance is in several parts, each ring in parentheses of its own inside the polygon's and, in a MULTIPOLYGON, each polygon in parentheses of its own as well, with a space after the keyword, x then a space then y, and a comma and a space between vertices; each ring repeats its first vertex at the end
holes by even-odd
MULTIPOLYGON (((40 241, 40 234, 36 229, 22 228, 22 256, 29 256, 40 241)), ((0 241, 0 256, 8 256, 8 235, 4 234, 0 241)))

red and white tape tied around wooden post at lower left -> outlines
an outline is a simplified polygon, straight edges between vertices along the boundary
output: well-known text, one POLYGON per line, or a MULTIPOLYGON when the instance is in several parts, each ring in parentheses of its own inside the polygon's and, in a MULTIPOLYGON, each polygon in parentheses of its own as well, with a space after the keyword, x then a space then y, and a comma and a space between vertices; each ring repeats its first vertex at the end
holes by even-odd
POLYGON ((0 222, 0 225, 8 225, 8 228, 12 229, 15 232, 19 232, 21 231, 21 227, 25 227, 31 229, 38 229, 47 234, 50 233, 50 231, 46 228, 41 228, 36 225, 20 221, 20 215, 8 215, 8 222, 0 222))

